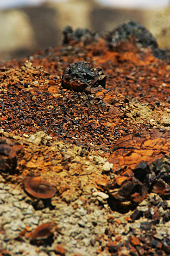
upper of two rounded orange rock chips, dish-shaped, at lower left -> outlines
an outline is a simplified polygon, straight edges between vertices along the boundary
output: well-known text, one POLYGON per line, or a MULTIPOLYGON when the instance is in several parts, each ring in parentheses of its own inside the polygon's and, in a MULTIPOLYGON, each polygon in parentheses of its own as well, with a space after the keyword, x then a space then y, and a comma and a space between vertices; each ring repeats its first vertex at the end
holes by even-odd
POLYGON ((56 193, 56 189, 45 179, 41 179, 41 177, 26 177, 24 189, 30 195, 40 199, 51 198, 56 193))

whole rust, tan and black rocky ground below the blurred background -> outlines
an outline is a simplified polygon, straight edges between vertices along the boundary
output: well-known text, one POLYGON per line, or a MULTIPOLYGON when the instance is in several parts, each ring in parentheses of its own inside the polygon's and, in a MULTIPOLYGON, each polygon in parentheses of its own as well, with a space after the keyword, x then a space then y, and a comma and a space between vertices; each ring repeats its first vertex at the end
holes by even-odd
POLYGON ((1 255, 170 254, 169 63, 135 22, 1 63, 1 255))

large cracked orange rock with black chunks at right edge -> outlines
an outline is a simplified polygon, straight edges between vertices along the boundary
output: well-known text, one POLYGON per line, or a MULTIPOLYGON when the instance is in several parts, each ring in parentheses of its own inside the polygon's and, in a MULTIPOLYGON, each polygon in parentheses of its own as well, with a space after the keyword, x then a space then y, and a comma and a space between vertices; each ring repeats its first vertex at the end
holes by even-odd
POLYGON ((115 174, 107 183, 110 196, 124 204, 139 203, 151 191, 170 195, 169 151, 170 132, 165 129, 122 137, 107 160, 115 174))

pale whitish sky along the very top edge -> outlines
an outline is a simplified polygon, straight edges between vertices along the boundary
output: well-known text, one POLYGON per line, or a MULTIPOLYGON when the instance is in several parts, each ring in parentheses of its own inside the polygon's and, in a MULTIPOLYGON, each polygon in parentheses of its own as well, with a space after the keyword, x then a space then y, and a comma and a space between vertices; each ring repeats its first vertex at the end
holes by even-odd
MULTIPOLYGON (((45 0, 0 0, 0 9, 38 5, 45 0)), ((67 0, 51 0, 56 2, 67 0)), ((96 0, 103 5, 112 7, 125 7, 125 8, 142 8, 142 9, 164 9, 170 3, 170 0, 96 0)))

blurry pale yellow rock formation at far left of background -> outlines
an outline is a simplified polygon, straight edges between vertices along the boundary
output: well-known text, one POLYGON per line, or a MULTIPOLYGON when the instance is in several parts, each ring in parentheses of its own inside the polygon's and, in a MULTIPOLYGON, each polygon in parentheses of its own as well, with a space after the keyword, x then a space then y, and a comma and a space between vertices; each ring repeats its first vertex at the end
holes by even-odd
POLYGON ((33 29, 24 11, 0 12, 0 59, 23 56, 35 47, 33 29))

